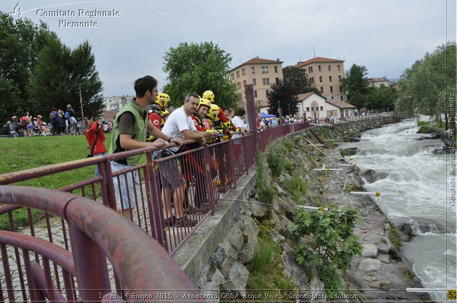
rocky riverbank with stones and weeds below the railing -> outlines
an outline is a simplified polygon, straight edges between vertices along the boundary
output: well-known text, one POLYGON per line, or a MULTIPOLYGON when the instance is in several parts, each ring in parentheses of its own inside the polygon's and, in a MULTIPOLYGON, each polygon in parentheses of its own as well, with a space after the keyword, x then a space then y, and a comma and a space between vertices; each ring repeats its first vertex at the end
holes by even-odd
MULTIPOLYGON (((389 121, 364 121, 317 130, 318 136, 328 140, 329 149, 323 150, 326 155, 317 151, 316 146, 310 146, 308 140, 314 144, 318 144, 318 141, 309 131, 289 136, 288 142, 271 144, 269 148, 278 144, 289 146, 287 153, 281 157, 285 163, 284 172, 270 180, 276 193, 272 202, 274 205, 268 207, 262 204, 266 201, 262 200, 259 189, 252 191, 248 201, 241 203, 239 214, 195 281, 202 293, 208 296, 216 294, 216 298, 208 301, 252 301, 254 297, 249 296, 257 296, 255 298, 260 302, 429 301, 428 293, 405 291, 409 287, 422 287, 408 261, 396 248, 400 236, 402 241, 413 236, 409 226, 400 226, 403 232, 397 232, 368 195, 343 194, 353 183, 353 190, 363 191, 363 184, 356 181, 360 173, 358 169, 352 167, 350 161, 341 159, 341 154, 351 151, 336 150, 331 140, 344 142, 348 138, 357 141, 361 132, 386 123, 389 121), (341 170, 314 170, 323 167, 341 170), (353 258, 351 269, 342 275, 347 291, 338 297, 327 297, 313 265, 303 266, 296 261, 298 244, 289 238, 298 209, 296 202, 319 207, 332 202, 340 208, 351 205, 359 211, 363 224, 356 225, 354 233, 359 235, 364 249, 362 256, 353 258), (249 289, 248 279, 253 276, 253 272, 250 272, 251 262, 260 243, 258 236, 266 233, 281 247, 281 259, 275 263, 271 275, 279 274, 281 281, 293 282, 293 291, 272 289, 260 295, 249 289), (273 297, 267 298, 268 294, 273 297)), ((268 169, 267 166, 265 168, 268 169)), ((273 175, 271 169, 269 172, 270 176, 273 175)), ((373 172, 363 173, 370 178, 373 172)), ((284 287, 282 284, 276 284, 276 287, 284 287)))

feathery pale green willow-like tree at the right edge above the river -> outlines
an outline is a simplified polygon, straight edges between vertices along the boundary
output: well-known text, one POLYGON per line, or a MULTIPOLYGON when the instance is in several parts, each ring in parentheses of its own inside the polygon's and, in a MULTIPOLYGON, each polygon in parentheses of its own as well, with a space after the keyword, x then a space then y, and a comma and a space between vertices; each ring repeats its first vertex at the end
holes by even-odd
POLYGON ((456 91, 456 52, 456 42, 447 42, 405 69, 399 79, 396 109, 436 119, 445 114, 447 128, 446 103, 449 94, 456 91))

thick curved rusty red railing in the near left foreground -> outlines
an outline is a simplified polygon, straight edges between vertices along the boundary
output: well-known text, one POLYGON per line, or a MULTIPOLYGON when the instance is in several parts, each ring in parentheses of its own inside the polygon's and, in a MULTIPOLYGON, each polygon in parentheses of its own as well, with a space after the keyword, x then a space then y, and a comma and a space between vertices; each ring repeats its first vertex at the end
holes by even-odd
MULTIPOLYGON (((0 186, 0 203, 40 209, 69 223, 72 252, 46 240, 0 231, 0 250, 10 302, 15 302, 9 272, 7 245, 23 250, 29 293, 22 289, 22 301, 131 301, 132 294, 147 301, 179 301, 187 290, 196 288, 181 268, 159 244, 121 214, 90 199, 60 191, 24 186, 0 186), (29 251, 42 256, 30 262, 29 251), (112 263, 115 278, 122 286, 112 293, 106 258, 112 263), (62 268, 65 296, 53 284, 49 260, 62 268), (77 279, 77 298, 72 277, 77 279), (73 284, 73 285, 72 285, 73 284), (157 293, 169 293, 156 296, 157 293), (125 296, 129 294, 130 296, 125 296), (178 297, 179 296, 179 297, 178 297), (24 298, 25 297, 25 298, 24 298), (28 298, 27 298, 28 297, 28 298)), ((37 256, 37 255, 35 255, 37 256)), ((21 264, 16 260, 19 268, 21 264)), ((22 283, 24 287, 25 283, 22 283)), ((117 287, 119 288, 119 287, 117 287)), ((0 289, 1 291, 1 289, 0 289)), ((1 294, 1 301, 4 301, 1 294)))

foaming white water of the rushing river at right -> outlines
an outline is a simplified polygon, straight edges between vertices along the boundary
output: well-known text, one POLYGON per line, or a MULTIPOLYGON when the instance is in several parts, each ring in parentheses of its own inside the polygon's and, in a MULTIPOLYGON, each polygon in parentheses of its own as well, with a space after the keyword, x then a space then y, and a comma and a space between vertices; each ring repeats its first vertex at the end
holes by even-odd
MULTIPOLYGON (((401 251, 424 287, 456 289, 456 206, 447 203, 446 154, 434 153, 444 144, 441 140, 417 141, 422 135, 415 133, 416 125, 415 120, 405 120, 366 131, 362 141, 345 147, 357 147, 351 163, 361 171, 373 169, 375 176, 388 175, 365 188, 381 193, 373 199, 389 219, 415 223, 413 230, 419 236, 402 243, 401 251)), ((430 293, 430 297, 437 302, 446 300, 445 294, 430 293)))

